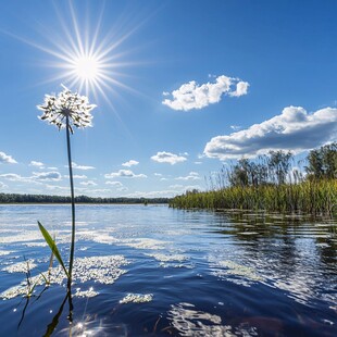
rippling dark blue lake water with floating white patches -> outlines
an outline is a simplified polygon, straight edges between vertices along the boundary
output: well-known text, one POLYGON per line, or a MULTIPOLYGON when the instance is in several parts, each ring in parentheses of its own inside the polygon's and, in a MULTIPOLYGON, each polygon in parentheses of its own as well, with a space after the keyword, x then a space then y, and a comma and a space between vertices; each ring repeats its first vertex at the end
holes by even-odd
POLYGON ((334 220, 93 204, 76 217, 70 325, 58 262, 50 287, 39 276, 37 221, 67 257, 71 207, 0 205, 0 336, 337 336, 334 220))

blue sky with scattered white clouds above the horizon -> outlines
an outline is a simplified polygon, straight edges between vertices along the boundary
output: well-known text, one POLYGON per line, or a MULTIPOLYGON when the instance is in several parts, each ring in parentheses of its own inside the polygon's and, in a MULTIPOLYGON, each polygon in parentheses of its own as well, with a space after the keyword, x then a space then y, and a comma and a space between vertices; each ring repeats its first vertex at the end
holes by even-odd
POLYGON ((97 104, 93 127, 72 136, 77 195, 171 197, 205 189, 242 155, 336 140, 336 11, 328 0, 1 1, 0 192, 68 194, 65 132, 36 108, 61 84, 97 104), (104 54, 100 88, 80 85, 80 42, 95 62, 104 54))

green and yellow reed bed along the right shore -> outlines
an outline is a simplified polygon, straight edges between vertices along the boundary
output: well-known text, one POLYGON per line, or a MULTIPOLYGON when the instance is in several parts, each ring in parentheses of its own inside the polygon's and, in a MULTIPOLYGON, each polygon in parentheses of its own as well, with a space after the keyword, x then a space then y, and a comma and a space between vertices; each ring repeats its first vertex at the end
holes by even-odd
POLYGON ((299 184, 224 187, 205 192, 186 192, 170 205, 183 209, 245 209, 278 212, 332 213, 337 203, 337 180, 299 184))

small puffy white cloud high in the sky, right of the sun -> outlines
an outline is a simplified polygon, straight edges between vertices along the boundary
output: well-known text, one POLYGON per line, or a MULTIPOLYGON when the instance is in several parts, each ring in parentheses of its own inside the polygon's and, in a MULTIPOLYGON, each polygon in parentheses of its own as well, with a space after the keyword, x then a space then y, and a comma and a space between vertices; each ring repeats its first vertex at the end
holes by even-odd
MULTIPOLYGON (((247 95, 249 83, 239 78, 221 75, 215 83, 198 85, 196 80, 183 84, 172 91, 172 99, 164 99, 162 103, 173 110, 202 109, 221 101, 223 95, 240 97, 247 95)), ((163 92, 167 97, 167 92, 163 92)))

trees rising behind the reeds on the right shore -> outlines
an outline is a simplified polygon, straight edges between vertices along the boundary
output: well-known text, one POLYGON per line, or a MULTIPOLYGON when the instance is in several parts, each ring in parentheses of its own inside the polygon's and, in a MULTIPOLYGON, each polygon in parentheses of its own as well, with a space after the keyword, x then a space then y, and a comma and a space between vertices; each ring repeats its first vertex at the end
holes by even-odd
POLYGON ((298 184, 304 180, 337 178, 337 142, 311 150, 304 160, 295 163, 290 151, 270 151, 257 160, 240 159, 210 177, 210 189, 226 186, 248 187, 261 185, 298 184), (302 168, 302 166, 305 164, 302 168))

